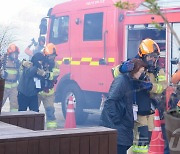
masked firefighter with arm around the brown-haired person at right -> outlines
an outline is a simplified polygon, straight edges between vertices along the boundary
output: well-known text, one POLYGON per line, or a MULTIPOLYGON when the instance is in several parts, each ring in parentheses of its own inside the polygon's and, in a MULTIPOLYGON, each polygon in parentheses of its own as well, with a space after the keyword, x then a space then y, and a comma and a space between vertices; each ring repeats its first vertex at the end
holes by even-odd
MULTIPOLYGON (((138 135, 135 135, 135 137, 138 136, 138 139, 135 139, 136 143, 133 145, 133 152, 135 153, 148 152, 148 145, 154 129, 154 110, 161 103, 162 92, 167 87, 165 72, 158 66, 159 54, 159 46, 152 39, 147 38, 140 43, 136 58, 142 59, 147 64, 147 72, 142 74, 140 79, 150 81, 152 88, 150 91, 142 90, 136 92, 135 99, 138 106, 138 117, 135 134, 137 133, 138 135)), ((113 76, 116 77, 120 72, 129 72, 133 67, 131 60, 126 61, 112 69, 113 76)))

